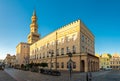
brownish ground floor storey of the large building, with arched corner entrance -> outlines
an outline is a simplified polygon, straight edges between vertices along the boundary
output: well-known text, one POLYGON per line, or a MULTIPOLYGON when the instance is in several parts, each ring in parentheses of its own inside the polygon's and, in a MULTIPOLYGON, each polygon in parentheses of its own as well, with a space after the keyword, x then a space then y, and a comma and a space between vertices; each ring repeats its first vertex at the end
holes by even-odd
MULTIPOLYGON (((68 55, 57 56, 57 57, 48 57, 42 59, 30 60, 33 63, 48 63, 49 69, 56 70, 69 70, 69 60, 68 55)), ((88 54, 73 54, 71 57, 72 60, 72 70, 79 72, 88 72, 88 71, 98 71, 99 70, 99 58, 88 54)))

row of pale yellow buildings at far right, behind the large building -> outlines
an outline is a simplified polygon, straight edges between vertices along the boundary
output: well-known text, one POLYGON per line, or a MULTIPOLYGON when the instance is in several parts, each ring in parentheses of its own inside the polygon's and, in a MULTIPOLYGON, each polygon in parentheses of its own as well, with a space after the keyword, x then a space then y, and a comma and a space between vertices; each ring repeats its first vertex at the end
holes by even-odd
POLYGON ((99 57, 99 66, 100 69, 112 69, 112 70, 120 70, 120 54, 114 53, 110 54, 96 54, 99 57))

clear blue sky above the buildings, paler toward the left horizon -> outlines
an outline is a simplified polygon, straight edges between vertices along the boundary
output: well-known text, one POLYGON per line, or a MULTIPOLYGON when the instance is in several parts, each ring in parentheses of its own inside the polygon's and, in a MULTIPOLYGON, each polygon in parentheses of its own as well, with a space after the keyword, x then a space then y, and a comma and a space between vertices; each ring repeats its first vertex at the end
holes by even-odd
POLYGON ((80 19, 95 35, 96 53, 120 53, 119 0, 0 0, 0 58, 27 42, 35 8, 41 37, 80 19))

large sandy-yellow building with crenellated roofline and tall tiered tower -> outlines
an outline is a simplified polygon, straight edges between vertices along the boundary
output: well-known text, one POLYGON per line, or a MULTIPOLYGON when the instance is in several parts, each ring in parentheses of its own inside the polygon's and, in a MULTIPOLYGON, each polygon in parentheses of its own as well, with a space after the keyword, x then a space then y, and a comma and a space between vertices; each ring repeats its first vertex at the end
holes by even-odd
POLYGON ((99 58, 95 56, 94 35, 81 20, 67 24, 40 38, 35 11, 31 19, 28 43, 23 46, 20 43, 16 47, 18 64, 24 64, 26 54, 29 63, 44 62, 48 63, 50 69, 68 70, 70 63, 68 54, 72 54, 73 71, 99 70, 99 58), (23 53, 25 50, 27 53, 23 53))

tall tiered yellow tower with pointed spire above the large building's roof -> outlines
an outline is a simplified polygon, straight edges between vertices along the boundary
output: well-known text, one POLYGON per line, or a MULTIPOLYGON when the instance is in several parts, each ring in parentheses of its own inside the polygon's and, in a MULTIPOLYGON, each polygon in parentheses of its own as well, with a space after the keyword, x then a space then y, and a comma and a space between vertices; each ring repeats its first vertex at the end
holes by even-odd
POLYGON ((37 16, 36 11, 33 11, 33 15, 31 17, 30 24, 30 34, 28 35, 28 43, 33 44, 40 39, 40 35, 38 34, 38 24, 37 24, 37 16))

